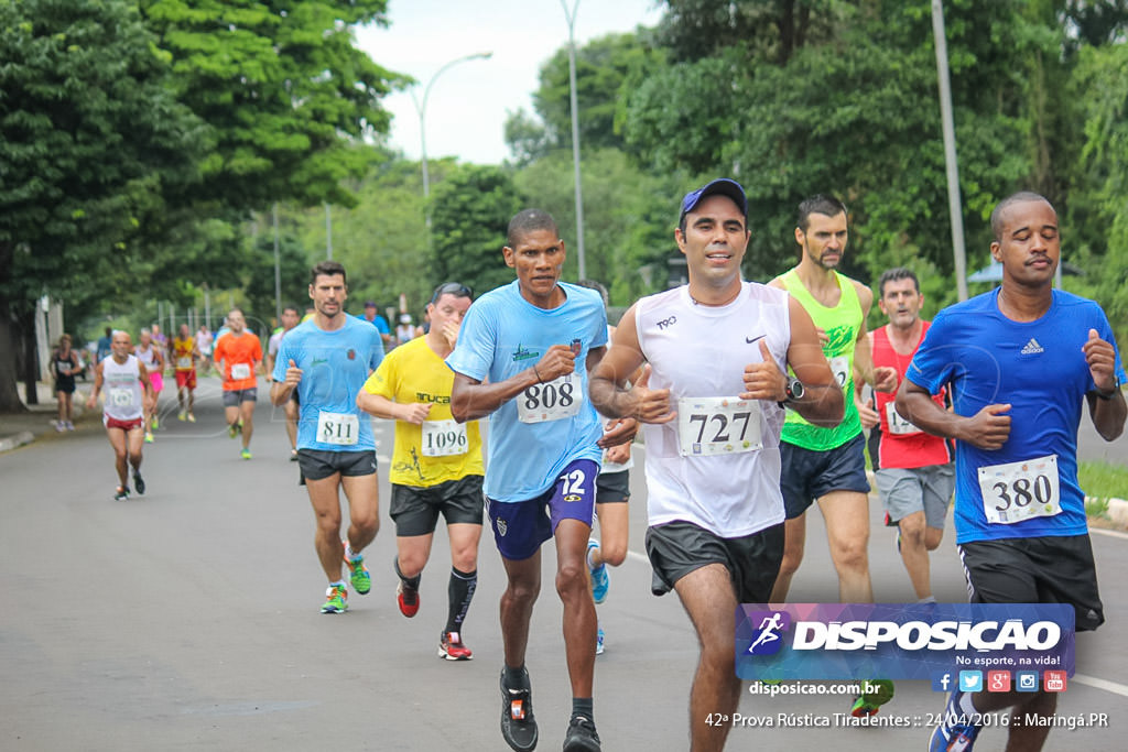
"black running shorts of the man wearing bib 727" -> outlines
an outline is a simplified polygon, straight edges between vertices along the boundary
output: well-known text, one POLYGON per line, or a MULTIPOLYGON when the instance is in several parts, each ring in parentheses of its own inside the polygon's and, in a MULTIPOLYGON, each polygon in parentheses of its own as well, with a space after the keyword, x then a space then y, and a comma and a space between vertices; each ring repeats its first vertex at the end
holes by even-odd
POLYGON ((651 592, 663 595, 690 572, 722 564, 737 600, 767 603, 783 560, 783 523, 741 538, 721 538, 691 522, 668 522, 646 530, 646 554, 654 567, 651 592))

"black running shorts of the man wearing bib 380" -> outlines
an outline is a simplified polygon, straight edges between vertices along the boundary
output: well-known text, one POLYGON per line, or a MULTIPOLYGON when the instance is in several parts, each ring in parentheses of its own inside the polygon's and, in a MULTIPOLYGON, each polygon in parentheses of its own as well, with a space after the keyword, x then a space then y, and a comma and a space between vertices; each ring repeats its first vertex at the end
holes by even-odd
POLYGON ((957 549, 972 603, 1068 603, 1077 631, 1104 623, 1087 534, 976 540, 957 549))

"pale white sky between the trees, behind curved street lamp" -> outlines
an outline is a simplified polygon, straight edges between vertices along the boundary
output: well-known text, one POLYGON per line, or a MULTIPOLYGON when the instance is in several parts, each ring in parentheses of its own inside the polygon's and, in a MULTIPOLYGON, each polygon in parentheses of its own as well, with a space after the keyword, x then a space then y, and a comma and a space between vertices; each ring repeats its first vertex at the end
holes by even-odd
MULTIPOLYGON (((566 0, 569 10, 576 0, 566 0)), ((579 0, 576 47, 638 25, 654 26, 664 6, 656 0, 579 0)), ((497 165, 506 157, 508 112, 532 113, 540 65, 567 44, 561 0, 389 0, 387 28, 356 29, 356 44, 384 68, 406 73, 422 101, 423 90, 444 64, 491 52, 488 60, 452 65, 434 79, 426 101, 429 160, 458 157, 497 165)), ((394 115, 390 142, 408 159, 420 158, 420 117, 409 91, 384 106, 394 115)))

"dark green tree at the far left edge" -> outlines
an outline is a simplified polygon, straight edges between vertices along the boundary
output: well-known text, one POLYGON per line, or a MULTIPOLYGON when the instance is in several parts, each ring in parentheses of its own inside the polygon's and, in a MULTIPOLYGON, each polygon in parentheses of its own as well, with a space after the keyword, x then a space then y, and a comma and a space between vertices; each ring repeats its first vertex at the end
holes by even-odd
POLYGON ((194 178, 202 129, 126 0, 0 3, 0 412, 12 412, 35 302, 81 307, 135 282, 129 241, 194 178))

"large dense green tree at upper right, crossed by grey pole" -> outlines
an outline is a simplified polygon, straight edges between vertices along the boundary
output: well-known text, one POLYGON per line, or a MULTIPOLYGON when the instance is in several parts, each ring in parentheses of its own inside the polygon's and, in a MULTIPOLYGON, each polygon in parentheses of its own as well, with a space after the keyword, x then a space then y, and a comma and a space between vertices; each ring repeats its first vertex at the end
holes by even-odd
MULTIPOLYGON (((788 25, 775 23, 756 27, 752 38, 717 34, 728 46, 712 51, 698 39, 698 26, 664 25, 663 38, 686 37, 671 52, 681 61, 678 71, 660 72, 628 103, 627 140, 644 163, 732 175, 744 185, 752 228, 746 273, 770 276, 793 264, 795 205, 805 195, 829 192, 852 210, 853 257, 864 267, 880 271, 889 257, 907 255, 951 274, 927 3, 671 6, 691 6, 721 28, 728 28, 717 15, 722 7, 732 23, 764 14, 781 18, 784 10, 795 11, 794 18, 800 10, 810 12, 804 34, 791 41, 783 38, 788 25)), ((960 188, 972 248, 987 247, 984 220, 995 202, 1037 175, 1032 152, 1040 121, 1030 105, 1029 61, 1036 54, 1054 59, 1061 35, 1024 17, 1023 9, 1013 0, 945 3, 960 188)), ((738 23, 735 30, 741 28, 738 23)))

